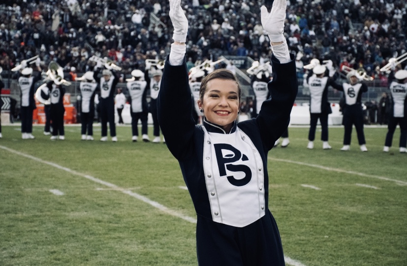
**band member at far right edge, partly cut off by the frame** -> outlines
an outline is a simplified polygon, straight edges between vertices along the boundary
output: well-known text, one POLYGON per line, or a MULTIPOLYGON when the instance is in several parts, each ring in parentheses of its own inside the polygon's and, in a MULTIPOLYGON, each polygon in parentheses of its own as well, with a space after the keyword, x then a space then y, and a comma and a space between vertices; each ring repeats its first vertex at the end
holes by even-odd
MULTIPOLYGON (((391 73, 392 74, 392 73, 391 73)), ((393 134, 397 124, 400 125, 400 152, 407 153, 407 70, 399 70, 389 76, 389 89, 393 98, 393 108, 390 119, 383 152, 388 152, 393 141, 393 134)))

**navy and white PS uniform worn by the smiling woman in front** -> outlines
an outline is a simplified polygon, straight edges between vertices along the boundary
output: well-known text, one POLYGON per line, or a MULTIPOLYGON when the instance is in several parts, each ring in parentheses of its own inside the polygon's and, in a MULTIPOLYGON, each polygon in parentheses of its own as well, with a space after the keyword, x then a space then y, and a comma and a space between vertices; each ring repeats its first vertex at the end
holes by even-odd
POLYGON ((273 55, 272 97, 258 117, 235 121, 232 131, 225 132, 206 119, 195 125, 185 58, 182 65, 172 66, 167 57, 158 118, 197 213, 200 265, 284 265, 278 228, 268 209, 267 154, 287 129, 297 94, 292 58, 281 64, 273 55))

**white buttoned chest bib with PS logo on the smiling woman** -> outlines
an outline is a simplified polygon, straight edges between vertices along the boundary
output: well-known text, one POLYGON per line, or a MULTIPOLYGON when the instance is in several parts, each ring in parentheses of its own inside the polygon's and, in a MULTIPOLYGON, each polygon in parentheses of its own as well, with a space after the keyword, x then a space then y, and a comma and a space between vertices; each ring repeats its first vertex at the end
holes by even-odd
POLYGON ((259 151, 238 128, 232 134, 204 135, 204 174, 218 223, 244 227, 265 214, 264 169, 259 151))

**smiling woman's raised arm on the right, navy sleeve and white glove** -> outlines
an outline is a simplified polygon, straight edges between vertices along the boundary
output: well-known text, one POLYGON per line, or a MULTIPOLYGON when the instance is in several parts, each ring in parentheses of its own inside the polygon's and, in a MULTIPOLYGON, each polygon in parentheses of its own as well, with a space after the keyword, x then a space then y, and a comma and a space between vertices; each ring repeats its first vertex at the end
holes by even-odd
POLYGON ((271 98, 266 100, 257 117, 266 149, 271 149, 290 122, 291 109, 298 91, 294 55, 289 53, 283 35, 287 0, 274 0, 270 13, 262 6, 262 26, 270 38, 273 56, 273 80, 268 83, 271 98))

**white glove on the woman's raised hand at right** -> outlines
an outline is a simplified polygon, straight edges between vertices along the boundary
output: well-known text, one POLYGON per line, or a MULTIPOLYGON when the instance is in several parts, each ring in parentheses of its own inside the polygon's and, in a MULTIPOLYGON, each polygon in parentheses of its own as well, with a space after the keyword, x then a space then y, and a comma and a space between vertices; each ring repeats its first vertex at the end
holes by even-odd
POLYGON ((262 26, 271 42, 283 42, 285 40, 283 32, 286 8, 287 0, 274 0, 270 13, 264 5, 260 8, 262 26))

